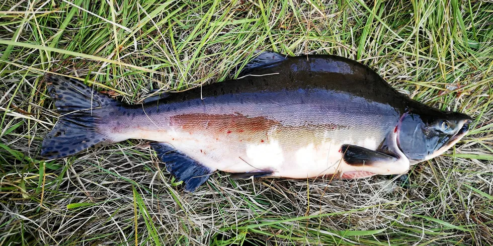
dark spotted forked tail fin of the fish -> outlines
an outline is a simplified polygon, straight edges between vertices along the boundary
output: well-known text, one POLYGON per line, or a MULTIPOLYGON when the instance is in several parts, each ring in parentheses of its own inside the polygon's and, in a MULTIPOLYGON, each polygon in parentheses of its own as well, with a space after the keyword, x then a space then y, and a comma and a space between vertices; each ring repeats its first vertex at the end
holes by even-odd
POLYGON ((60 158, 95 145, 112 141, 98 131, 108 108, 120 105, 76 79, 46 74, 48 93, 55 101, 60 118, 41 145, 41 156, 60 158))

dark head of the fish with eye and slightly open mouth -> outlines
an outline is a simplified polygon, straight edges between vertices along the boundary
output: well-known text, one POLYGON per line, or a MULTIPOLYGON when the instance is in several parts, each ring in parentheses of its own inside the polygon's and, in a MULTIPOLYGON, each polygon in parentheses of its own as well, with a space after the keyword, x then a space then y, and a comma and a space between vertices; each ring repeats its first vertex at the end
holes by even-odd
POLYGON ((411 164, 434 158, 465 136, 471 121, 471 117, 458 112, 410 110, 395 128, 397 146, 411 164))

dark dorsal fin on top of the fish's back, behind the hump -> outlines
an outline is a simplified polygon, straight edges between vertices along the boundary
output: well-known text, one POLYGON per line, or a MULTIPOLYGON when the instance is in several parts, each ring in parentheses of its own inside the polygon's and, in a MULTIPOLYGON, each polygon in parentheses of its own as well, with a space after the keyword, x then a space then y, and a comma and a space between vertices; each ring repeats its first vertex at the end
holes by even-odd
MULTIPOLYGON (((285 55, 279 54, 274 51, 261 51, 261 50, 255 50, 255 58, 252 59, 249 63, 244 65, 243 69, 238 74, 238 77, 248 75, 255 70, 258 70, 260 68, 268 67, 273 64, 276 64, 278 62, 281 62, 286 58, 285 55)), ((235 69, 231 71, 229 74, 231 77, 234 77, 234 74, 241 68, 241 64, 236 66, 235 69)))

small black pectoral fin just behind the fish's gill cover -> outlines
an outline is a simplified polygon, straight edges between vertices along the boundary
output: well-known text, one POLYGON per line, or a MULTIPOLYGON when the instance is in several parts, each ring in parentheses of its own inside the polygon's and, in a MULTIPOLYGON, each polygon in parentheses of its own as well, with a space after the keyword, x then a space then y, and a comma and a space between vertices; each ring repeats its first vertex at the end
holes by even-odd
POLYGON ((342 145, 340 152, 344 161, 352 166, 373 166, 398 160, 395 156, 351 144, 342 145))

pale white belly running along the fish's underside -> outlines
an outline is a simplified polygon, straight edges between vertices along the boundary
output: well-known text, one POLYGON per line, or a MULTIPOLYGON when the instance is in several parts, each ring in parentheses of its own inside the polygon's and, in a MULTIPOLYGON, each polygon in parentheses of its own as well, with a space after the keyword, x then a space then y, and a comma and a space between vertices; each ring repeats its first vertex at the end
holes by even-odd
POLYGON ((229 173, 271 171, 272 177, 304 179, 336 174, 343 178, 361 178, 376 174, 402 174, 409 168, 406 158, 371 166, 352 166, 344 162, 342 153, 339 152, 342 144, 354 144, 375 150, 377 143, 373 139, 359 142, 349 139, 342 143, 326 141, 317 146, 313 143, 293 146, 283 145, 277 139, 266 139, 256 144, 234 144, 225 139, 177 131, 169 131, 166 134, 139 132, 139 135, 133 138, 167 142, 202 165, 229 173))

